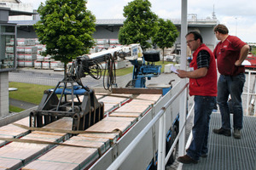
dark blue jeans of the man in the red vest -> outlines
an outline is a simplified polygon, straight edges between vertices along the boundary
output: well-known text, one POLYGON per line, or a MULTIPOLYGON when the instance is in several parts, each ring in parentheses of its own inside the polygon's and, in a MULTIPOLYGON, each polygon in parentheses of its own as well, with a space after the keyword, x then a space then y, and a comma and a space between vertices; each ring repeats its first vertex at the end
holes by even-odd
POLYGON ((189 145, 187 155, 195 161, 198 161, 202 154, 208 152, 208 134, 209 123, 212 109, 216 104, 216 97, 212 96, 195 96, 195 116, 194 126, 192 127, 193 139, 189 145))

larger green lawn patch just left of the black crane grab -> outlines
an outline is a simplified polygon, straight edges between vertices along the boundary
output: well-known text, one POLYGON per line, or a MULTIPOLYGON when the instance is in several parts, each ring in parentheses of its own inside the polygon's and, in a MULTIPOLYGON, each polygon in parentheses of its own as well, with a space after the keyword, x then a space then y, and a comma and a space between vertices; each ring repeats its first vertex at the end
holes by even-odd
POLYGON ((44 95, 44 90, 54 87, 21 82, 9 82, 9 88, 18 88, 17 91, 9 92, 9 98, 39 105, 44 95))

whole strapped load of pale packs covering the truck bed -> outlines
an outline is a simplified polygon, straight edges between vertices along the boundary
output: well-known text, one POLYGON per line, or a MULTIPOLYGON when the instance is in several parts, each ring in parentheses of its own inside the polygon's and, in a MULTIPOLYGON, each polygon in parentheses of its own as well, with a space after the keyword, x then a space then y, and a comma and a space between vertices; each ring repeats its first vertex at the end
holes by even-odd
MULTIPOLYGON (((127 132, 160 99, 159 94, 141 94, 136 99, 122 95, 97 97, 99 97, 99 101, 104 102, 105 108, 108 108, 105 111, 110 113, 109 116, 106 116, 102 121, 97 122, 92 127, 86 129, 84 133, 78 135, 58 132, 58 129, 72 129, 73 120, 70 117, 64 117, 56 122, 52 122, 42 127, 40 131, 36 130, 27 133, 21 139, 40 142, 47 141, 52 142, 52 144, 40 144, 40 142, 38 144, 29 142, 11 142, 6 144, 0 148, 0 169, 50 170, 84 169, 89 167, 117 139, 121 138, 122 133, 127 132), (49 128, 54 129, 54 132, 42 131, 49 128)), ((28 119, 26 121, 27 123, 29 122, 28 119)), ((19 123, 22 124, 21 122, 19 123)), ((24 125, 27 126, 26 123, 24 125)), ((8 126, 6 129, 11 131, 11 127, 8 126)), ((5 127, 0 127, 0 133, 4 129, 5 127)), ((26 129, 22 130, 28 131, 26 129)), ((21 131, 20 133, 24 132, 21 131)), ((15 136, 19 136, 19 134, 15 134, 15 136)))

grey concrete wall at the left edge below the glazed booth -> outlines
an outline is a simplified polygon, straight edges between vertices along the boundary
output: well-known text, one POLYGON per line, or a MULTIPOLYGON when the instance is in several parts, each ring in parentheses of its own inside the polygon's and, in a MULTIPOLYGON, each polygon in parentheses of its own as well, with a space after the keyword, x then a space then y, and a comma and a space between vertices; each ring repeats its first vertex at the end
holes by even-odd
POLYGON ((9 72, 0 72, 0 117, 9 115, 9 72))

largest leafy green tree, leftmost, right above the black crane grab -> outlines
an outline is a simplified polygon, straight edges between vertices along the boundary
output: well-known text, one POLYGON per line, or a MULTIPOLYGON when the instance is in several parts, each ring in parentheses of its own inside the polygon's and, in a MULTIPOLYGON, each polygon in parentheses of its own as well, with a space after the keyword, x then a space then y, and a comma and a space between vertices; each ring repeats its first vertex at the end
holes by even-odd
POLYGON ((38 8, 41 20, 35 25, 38 40, 46 45, 47 54, 65 64, 79 55, 88 54, 94 45, 96 18, 86 9, 85 0, 47 0, 38 8))

